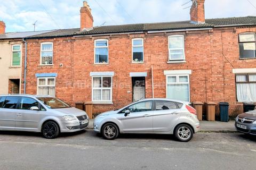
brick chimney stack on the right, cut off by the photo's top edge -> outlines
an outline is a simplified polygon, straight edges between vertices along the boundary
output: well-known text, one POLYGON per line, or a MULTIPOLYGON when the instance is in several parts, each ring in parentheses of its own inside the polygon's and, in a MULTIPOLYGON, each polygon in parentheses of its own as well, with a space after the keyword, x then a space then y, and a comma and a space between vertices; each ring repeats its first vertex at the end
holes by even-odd
POLYGON ((192 6, 190 8, 190 21, 195 23, 205 23, 204 17, 204 1, 205 0, 191 0, 192 6))

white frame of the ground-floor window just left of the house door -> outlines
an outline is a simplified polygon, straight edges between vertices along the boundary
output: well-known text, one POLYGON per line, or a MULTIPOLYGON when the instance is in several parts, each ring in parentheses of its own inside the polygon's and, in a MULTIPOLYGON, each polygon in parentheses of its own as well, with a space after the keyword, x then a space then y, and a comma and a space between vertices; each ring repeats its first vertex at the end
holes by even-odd
POLYGON ((112 103, 112 89, 113 89, 113 77, 109 75, 105 76, 92 76, 92 102, 93 103, 112 103), (103 84, 103 77, 111 78, 111 87, 93 87, 93 78, 101 78, 101 86, 103 84), (102 90, 110 89, 110 100, 102 100, 102 90), (101 90, 101 100, 93 100, 93 90, 101 90))

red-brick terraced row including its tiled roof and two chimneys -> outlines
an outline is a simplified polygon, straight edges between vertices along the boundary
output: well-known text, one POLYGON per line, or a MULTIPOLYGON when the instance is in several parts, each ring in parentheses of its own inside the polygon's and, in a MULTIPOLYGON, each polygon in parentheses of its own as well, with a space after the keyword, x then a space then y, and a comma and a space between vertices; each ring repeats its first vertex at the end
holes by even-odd
POLYGON ((94 113, 164 97, 227 101, 235 116, 256 101, 255 16, 205 19, 204 0, 189 21, 93 27, 86 2, 80 12, 81 28, 26 38, 22 91, 90 101, 94 113))

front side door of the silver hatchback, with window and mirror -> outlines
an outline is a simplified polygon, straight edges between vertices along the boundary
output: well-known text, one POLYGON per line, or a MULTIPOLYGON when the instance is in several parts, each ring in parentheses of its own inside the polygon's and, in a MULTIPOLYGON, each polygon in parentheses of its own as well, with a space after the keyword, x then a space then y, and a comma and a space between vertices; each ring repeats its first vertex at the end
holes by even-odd
POLYGON ((153 131, 153 101, 141 101, 125 108, 118 119, 122 122, 123 132, 152 132, 153 131), (124 112, 131 112, 126 117, 124 112))

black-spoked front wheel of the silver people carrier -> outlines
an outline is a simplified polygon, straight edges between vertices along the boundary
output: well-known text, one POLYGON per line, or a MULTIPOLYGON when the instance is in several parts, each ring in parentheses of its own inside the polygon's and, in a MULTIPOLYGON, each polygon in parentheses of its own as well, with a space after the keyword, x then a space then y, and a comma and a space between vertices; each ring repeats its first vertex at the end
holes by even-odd
POLYGON ((42 127, 42 134, 46 139, 54 139, 60 134, 59 125, 53 121, 44 123, 42 127))

